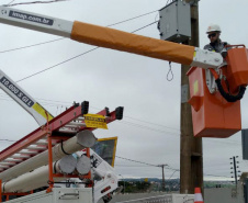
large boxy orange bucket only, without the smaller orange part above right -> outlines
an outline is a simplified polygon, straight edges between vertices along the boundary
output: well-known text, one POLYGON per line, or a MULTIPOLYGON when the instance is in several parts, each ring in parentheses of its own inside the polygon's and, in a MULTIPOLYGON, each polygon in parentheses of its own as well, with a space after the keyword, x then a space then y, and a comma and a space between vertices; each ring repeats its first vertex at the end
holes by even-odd
POLYGON ((241 129, 240 101, 229 103, 221 93, 210 93, 205 70, 192 67, 188 74, 195 137, 229 137, 241 129))

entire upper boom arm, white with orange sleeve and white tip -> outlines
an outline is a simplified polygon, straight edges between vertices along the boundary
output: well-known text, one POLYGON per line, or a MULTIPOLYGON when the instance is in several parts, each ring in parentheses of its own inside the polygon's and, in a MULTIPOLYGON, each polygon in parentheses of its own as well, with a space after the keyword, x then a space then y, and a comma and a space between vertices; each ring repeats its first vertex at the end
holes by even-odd
POLYGON ((223 63, 219 53, 203 50, 193 46, 78 21, 70 22, 7 7, 0 7, 0 10, 1 23, 70 37, 80 43, 202 68, 216 68, 223 63))

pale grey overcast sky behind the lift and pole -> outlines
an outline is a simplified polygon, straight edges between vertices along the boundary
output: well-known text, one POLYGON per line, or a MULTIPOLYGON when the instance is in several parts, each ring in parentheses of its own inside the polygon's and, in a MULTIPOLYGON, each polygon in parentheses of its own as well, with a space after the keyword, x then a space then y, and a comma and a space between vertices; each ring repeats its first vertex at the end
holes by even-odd
MULTIPOLYGON (((8 4, 10 0, 1 0, 8 4)), ((29 2, 15 0, 13 3, 29 2)), ((106 26, 153 12, 114 29, 133 32, 158 20, 159 9, 167 0, 68 0, 49 4, 16 5, 15 9, 82 21, 106 26)), ((248 45, 248 1, 202 0, 200 9, 200 46, 208 43, 205 30, 210 23, 222 26, 222 38, 229 44, 248 45)), ((0 24, 0 69, 14 81, 42 71, 91 48, 68 38, 30 48, 16 49, 58 36, 0 24), (12 52, 5 52, 16 49, 12 52)), ((153 24, 136 34, 159 38, 153 24)), ((119 157, 153 165, 167 163, 180 168, 180 65, 172 64, 173 80, 167 80, 168 61, 127 53, 99 48, 43 74, 20 81, 19 84, 42 103, 52 114, 61 113, 74 101, 89 101, 90 112, 105 106, 124 106, 124 120, 109 125, 109 131, 95 131, 95 136, 117 136, 119 157)), ((169 78, 171 75, 169 75, 169 78)), ((248 94, 241 102, 243 127, 248 126, 248 94)), ((1 139, 16 140, 38 127, 34 119, 3 91, 0 91, 1 139)), ((0 149, 11 142, 0 140, 0 149)), ((203 139, 204 178, 230 177, 230 160, 239 156, 240 170, 248 170, 241 160, 240 133, 226 139, 203 139), (215 177, 216 176, 216 177, 215 177)), ((116 158, 116 172, 123 177, 161 177, 161 169, 116 158)), ((166 169, 166 178, 179 172, 166 169)))

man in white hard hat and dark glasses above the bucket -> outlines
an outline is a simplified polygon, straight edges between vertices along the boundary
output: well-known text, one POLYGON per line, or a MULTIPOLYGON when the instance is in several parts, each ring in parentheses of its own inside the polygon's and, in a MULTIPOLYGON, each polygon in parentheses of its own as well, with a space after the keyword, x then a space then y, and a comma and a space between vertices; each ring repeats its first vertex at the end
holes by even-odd
POLYGON ((221 41, 219 38, 221 32, 222 30, 217 24, 211 24, 207 27, 206 34, 207 37, 210 38, 210 44, 205 45, 204 49, 216 53, 221 53, 224 49, 227 43, 221 41))

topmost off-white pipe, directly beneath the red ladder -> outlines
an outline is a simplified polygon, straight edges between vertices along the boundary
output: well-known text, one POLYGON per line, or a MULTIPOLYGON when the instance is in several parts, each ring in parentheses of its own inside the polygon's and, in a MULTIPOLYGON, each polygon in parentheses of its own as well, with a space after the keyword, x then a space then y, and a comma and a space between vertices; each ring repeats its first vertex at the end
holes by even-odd
MULTIPOLYGON (((75 137, 67 139, 61 144, 57 144, 53 147, 53 161, 61 159, 67 154, 74 154, 86 147, 92 147, 97 138, 91 131, 82 131, 78 133, 75 137), (66 153, 66 154, 65 154, 66 153)), ((23 162, 20 162, 15 167, 12 167, 0 173, 0 179, 2 182, 14 179, 21 174, 32 171, 38 167, 48 163, 48 150, 36 155, 23 162)), ((32 184, 32 182, 30 182, 32 184)))

